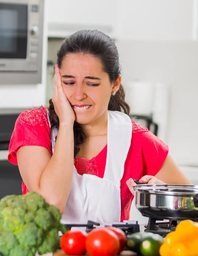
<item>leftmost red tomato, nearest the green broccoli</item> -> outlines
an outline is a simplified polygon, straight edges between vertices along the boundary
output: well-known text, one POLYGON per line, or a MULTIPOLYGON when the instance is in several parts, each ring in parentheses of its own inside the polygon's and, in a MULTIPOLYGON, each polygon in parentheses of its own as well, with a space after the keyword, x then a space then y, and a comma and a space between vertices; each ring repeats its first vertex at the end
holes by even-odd
POLYGON ((70 255, 84 255, 87 233, 81 230, 69 230, 60 240, 61 249, 70 255))

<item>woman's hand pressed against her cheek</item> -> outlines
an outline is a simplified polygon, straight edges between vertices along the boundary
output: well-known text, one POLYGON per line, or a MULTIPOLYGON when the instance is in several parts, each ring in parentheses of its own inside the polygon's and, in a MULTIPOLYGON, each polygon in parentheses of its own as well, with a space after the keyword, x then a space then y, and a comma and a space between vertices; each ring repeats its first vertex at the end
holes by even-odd
POLYGON ((65 95, 62 83, 59 67, 55 65, 55 76, 54 76, 54 93, 52 97, 52 102, 54 103, 54 109, 59 117, 59 124, 68 125, 74 124, 75 113, 65 95))

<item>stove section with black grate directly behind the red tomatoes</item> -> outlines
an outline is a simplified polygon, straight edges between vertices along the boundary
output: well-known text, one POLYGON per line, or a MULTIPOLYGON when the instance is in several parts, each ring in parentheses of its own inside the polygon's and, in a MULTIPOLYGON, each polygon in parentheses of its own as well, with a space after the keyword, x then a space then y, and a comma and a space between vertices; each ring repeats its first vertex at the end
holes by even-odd
POLYGON ((100 227, 117 227, 124 231, 125 235, 140 232, 138 221, 123 221, 99 224, 98 222, 88 221, 86 224, 65 224, 69 230, 84 230, 89 233, 91 230, 100 227))

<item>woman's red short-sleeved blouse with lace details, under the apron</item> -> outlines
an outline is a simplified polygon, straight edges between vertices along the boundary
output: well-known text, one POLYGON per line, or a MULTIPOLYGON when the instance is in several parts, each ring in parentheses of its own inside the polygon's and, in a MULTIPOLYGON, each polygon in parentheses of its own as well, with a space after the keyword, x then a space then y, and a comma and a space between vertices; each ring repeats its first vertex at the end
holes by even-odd
MULTIPOLYGON (((121 180, 121 221, 128 220, 133 195, 127 187, 126 181, 131 177, 139 180, 144 175, 155 176, 161 169, 168 154, 168 146, 147 128, 133 122, 130 149, 124 164, 124 175, 121 180)), ((50 127, 46 108, 33 108, 24 111, 17 118, 9 145, 8 160, 17 165, 16 152, 18 148, 41 146, 47 148, 52 155, 50 127)), ((30 156, 31 157, 31 156, 30 156)), ((107 157, 107 145, 91 160, 75 158, 74 165, 80 175, 84 173, 103 177, 107 157)), ((28 192, 22 183, 22 193, 28 192)))

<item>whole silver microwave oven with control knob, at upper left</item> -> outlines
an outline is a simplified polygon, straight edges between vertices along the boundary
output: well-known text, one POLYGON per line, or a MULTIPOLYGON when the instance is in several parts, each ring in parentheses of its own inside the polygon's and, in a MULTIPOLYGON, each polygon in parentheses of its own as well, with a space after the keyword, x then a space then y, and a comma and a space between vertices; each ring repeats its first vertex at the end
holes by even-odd
POLYGON ((0 0, 0 84, 41 83, 44 0, 0 0))

